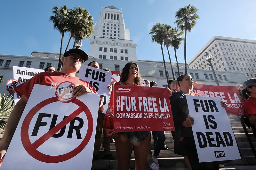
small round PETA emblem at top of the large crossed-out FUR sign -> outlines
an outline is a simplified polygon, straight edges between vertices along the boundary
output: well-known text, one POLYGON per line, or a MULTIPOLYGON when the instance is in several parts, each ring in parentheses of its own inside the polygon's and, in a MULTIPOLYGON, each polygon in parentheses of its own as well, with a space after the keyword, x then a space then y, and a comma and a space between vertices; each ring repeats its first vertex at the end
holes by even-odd
POLYGON ((71 102, 75 99, 74 96, 71 94, 73 93, 73 88, 75 87, 74 83, 71 83, 69 81, 64 81, 60 83, 56 87, 55 95, 58 100, 60 100, 63 103, 71 102))

